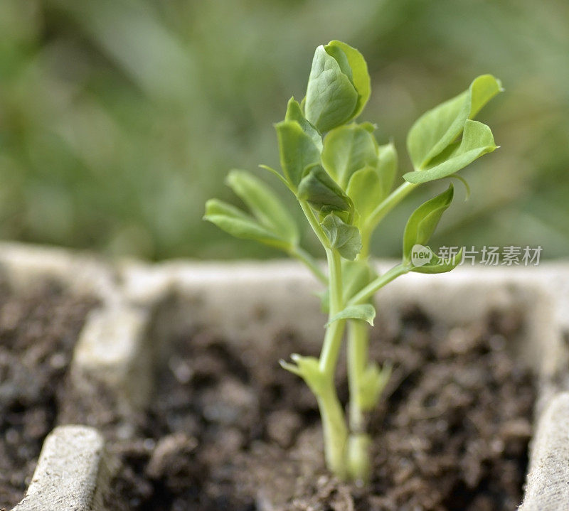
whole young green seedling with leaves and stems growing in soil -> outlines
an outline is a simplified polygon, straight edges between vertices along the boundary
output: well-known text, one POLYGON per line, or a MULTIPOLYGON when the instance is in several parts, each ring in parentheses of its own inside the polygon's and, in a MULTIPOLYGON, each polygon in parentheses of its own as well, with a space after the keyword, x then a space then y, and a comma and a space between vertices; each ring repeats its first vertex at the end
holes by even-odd
MULTIPOLYGON (((399 264, 377 274, 369 258, 373 231, 390 210, 422 183, 450 178, 474 160, 496 149, 494 137, 473 120, 500 92, 491 75, 477 77, 462 94, 426 112, 411 127, 407 150, 413 170, 393 190, 398 154, 393 143, 379 144, 368 122, 356 123, 371 87, 366 61, 340 41, 314 53, 307 93, 291 98, 285 119, 275 124, 281 171, 262 166, 286 185, 297 199, 324 248, 327 271, 299 245, 294 218, 260 179, 231 171, 227 184, 248 211, 212 199, 205 219, 231 235, 281 249, 299 259, 326 286, 322 302, 329 318, 319 358, 294 354, 282 367, 302 377, 317 399, 326 465, 345 480, 365 482, 370 475, 366 415, 376 407, 390 367, 368 359, 369 325, 376 309, 373 295, 409 271, 450 271, 462 255, 442 260, 428 247, 442 214, 452 202, 452 184, 410 215, 403 232, 399 264), (417 259, 416 257, 423 259, 417 259), (334 374, 346 333, 349 380, 348 417, 334 374)), ((462 179, 462 178, 461 178, 462 179)))

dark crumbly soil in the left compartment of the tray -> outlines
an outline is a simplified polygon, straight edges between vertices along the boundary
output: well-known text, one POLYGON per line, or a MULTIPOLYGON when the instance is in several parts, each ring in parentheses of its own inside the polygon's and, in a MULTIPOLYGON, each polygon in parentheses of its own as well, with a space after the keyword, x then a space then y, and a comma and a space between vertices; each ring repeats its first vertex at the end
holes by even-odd
POLYGON ((30 483, 55 426, 75 340, 95 303, 48 284, 15 296, 0 282, 0 508, 16 505, 30 483))

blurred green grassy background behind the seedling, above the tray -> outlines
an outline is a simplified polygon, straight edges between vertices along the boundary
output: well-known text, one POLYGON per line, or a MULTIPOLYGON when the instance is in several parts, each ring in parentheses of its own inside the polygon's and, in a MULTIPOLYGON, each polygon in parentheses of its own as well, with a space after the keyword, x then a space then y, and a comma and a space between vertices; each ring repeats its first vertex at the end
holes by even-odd
MULTIPOLYGON (((278 165, 272 123, 301 98, 314 48, 366 57, 361 120, 405 135, 490 72, 506 92, 479 119, 499 151, 462 176, 438 244, 569 252, 569 2, 548 0, 0 0, 0 237, 167 257, 274 257, 201 220, 223 178, 278 165), (464 189, 459 185, 459 198, 464 189)), ((420 188, 380 227, 398 256, 420 188)), ((300 220, 300 215, 299 215, 300 220)), ((315 244, 307 232, 306 244, 315 244)))

